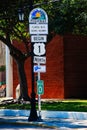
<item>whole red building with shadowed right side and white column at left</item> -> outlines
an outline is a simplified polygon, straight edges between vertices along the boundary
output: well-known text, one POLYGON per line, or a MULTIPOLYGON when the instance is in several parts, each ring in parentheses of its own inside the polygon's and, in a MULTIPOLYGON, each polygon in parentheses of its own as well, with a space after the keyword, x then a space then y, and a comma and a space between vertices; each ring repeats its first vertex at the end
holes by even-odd
MULTIPOLYGON (((20 43, 15 45, 23 49, 20 43)), ((19 84, 17 66, 15 61, 10 59, 8 49, 6 56, 9 56, 6 57, 6 93, 8 97, 15 98, 16 87, 19 84)), ((25 71, 30 95, 31 58, 25 63, 25 71)), ((37 73, 34 73, 34 76, 36 78, 37 73)), ((44 80, 44 94, 41 98, 87 99, 87 36, 56 35, 46 45, 46 73, 41 73, 41 80, 44 80)), ((35 81, 35 91, 36 89, 35 81)))

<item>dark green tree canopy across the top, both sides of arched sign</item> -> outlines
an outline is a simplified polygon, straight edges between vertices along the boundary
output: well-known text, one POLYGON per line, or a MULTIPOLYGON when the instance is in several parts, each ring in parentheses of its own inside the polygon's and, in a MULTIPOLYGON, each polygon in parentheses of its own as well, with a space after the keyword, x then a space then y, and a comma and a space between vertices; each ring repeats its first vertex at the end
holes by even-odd
MULTIPOLYGON (((28 17, 32 0, 0 1, 0 36, 7 32, 11 37, 28 38, 28 17), (18 11, 24 12, 24 23, 18 19, 18 11)), ((49 34, 87 34, 87 0, 34 0, 33 8, 41 7, 49 17, 49 34)), ((1 37, 0 37, 1 39, 1 37)))

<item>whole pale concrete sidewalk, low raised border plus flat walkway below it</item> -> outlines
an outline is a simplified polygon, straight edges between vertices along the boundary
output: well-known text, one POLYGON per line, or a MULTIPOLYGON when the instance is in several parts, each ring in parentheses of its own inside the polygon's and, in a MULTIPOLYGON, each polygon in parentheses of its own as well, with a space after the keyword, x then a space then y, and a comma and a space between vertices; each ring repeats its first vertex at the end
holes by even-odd
POLYGON ((0 123, 29 125, 58 130, 87 130, 86 112, 42 111, 41 122, 28 122, 28 110, 0 110, 0 123))

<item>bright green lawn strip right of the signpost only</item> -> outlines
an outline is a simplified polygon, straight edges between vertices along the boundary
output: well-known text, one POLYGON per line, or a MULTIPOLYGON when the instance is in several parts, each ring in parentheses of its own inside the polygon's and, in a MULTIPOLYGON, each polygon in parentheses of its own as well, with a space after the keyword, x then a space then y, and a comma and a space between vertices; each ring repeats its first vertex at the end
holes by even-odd
POLYGON ((42 105, 44 110, 57 110, 57 111, 85 111, 87 112, 87 102, 60 102, 60 103, 46 103, 42 105))

